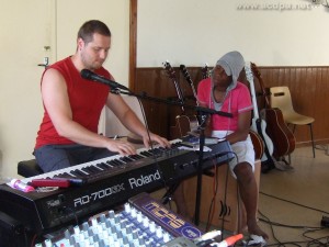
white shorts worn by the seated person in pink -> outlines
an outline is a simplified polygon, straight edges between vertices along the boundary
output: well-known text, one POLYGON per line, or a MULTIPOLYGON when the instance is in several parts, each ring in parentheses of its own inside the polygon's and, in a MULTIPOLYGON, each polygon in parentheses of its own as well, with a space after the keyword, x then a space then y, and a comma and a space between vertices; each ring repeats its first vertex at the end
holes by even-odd
MULTIPOLYGON (((212 136, 217 138, 225 138, 231 132, 228 131, 213 131, 212 136)), ((254 149, 248 135, 246 141, 241 141, 230 145, 232 151, 236 154, 236 158, 229 161, 229 169, 232 177, 237 178, 234 172, 235 167, 240 162, 248 162, 252 167, 252 172, 254 172, 254 149)))

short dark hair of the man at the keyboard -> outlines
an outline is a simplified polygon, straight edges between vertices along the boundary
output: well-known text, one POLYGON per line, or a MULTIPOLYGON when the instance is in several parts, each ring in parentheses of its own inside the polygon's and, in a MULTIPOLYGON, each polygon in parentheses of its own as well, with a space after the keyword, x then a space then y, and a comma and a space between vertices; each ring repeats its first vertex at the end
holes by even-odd
POLYGON ((92 42, 94 33, 111 37, 111 31, 105 23, 99 20, 90 20, 84 22, 80 27, 78 38, 82 38, 84 43, 89 43, 92 42))

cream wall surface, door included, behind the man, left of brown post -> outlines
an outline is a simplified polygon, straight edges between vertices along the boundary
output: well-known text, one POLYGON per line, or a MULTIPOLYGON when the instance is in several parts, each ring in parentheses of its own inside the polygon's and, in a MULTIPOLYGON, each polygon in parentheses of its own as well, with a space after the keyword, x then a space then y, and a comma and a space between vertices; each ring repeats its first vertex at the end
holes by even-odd
POLYGON ((16 177, 32 155, 43 109, 43 57, 50 64, 76 50, 78 29, 99 19, 113 44, 104 67, 128 86, 129 0, 1 0, 0 9, 0 176, 16 177), (49 52, 43 47, 50 46, 49 52))

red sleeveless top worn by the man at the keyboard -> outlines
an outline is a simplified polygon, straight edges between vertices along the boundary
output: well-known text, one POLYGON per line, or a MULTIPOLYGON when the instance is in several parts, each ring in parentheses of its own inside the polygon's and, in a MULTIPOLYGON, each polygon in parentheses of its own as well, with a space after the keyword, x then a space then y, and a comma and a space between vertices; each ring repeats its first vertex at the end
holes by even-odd
MULTIPOLYGON (((73 66, 70 57, 67 57, 49 68, 57 69, 67 83, 72 119, 91 132, 98 133, 101 111, 106 103, 109 87, 95 81, 86 80, 73 66)), ((104 68, 94 71, 98 75, 111 78, 104 68)), ((59 136, 47 110, 44 106, 44 117, 37 132, 35 149, 48 144, 72 144, 68 138, 59 136)))

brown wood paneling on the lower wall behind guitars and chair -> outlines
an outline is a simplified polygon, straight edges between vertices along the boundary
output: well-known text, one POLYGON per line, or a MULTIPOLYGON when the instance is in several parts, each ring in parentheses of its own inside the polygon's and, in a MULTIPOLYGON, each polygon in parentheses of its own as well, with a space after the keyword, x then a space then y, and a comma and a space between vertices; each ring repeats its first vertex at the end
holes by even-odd
MULTIPOLYGON (((181 86, 184 96, 192 97, 190 85, 180 72, 173 68, 175 78, 181 86)), ((189 67, 188 71, 194 82, 195 89, 202 79, 200 67, 189 67)), ((329 117, 326 105, 329 105, 329 66, 321 67, 259 67, 265 87, 287 86, 291 89, 294 108, 297 112, 315 117, 314 136, 317 144, 329 142, 329 117)), ((168 77, 163 68, 137 68, 135 74, 134 91, 138 94, 146 93, 149 97, 160 99, 177 97, 172 79, 168 77)), ((254 80, 256 91, 260 87, 254 80)), ((263 101, 259 97, 259 108, 263 108, 263 101)), ((174 117, 182 113, 179 106, 168 106, 149 100, 143 100, 149 128, 170 138, 169 127, 175 125, 174 117)), ((186 103, 194 105, 195 101, 186 103)), ((189 112, 188 112, 189 113, 189 112)), ((297 126, 295 131, 297 145, 309 145, 310 135, 308 126, 297 126)))

